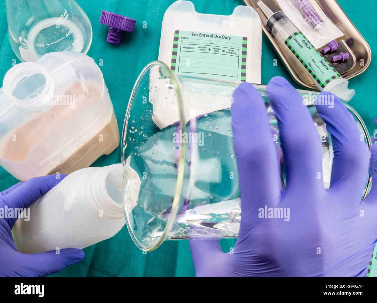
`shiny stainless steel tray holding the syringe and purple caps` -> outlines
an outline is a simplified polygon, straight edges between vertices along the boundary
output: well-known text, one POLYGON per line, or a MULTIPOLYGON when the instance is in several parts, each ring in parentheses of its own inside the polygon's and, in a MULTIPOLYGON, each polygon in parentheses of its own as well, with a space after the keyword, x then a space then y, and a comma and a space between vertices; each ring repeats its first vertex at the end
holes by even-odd
MULTIPOLYGON (((287 67, 288 71, 291 73, 292 77, 298 84, 309 89, 318 90, 317 86, 311 81, 308 75, 302 70, 299 63, 291 58, 288 50, 281 46, 267 31, 265 24, 267 19, 264 13, 261 11, 257 5, 258 0, 244 0, 245 4, 254 8, 259 17, 262 20, 262 29, 267 35, 268 39, 271 41, 275 50, 284 65, 287 67)), ((339 43, 338 53, 340 51, 348 51, 349 59, 345 63, 332 63, 333 67, 342 75, 345 79, 350 79, 364 72, 371 62, 371 48, 368 43, 366 43, 363 36, 356 29, 354 24, 349 20, 348 16, 345 14, 343 9, 335 0, 314 0, 318 3, 322 11, 327 15, 327 17, 333 22, 344 35, 337 38, 336 41, 339 43)), ((272 11, 281 11, 279 5, 274 0, 264 0, 264 3, 271 8, 272 11)), ((324 45, 325 46, 325 45, 324 45)), ((324 47, 323 46, 323 47, 324 47)), ((319 48, 319 50, 322 47, 319 48)), ((330 61, 331 62, 331 61, 330 61)))

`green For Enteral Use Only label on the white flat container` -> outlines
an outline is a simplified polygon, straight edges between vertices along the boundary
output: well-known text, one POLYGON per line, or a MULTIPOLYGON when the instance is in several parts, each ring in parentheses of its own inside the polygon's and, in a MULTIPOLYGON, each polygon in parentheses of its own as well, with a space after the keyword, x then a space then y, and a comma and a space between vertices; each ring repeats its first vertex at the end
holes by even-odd
POLYGON ((246 81, 247 37, 175 31, 170 69, 200 77, 246 81))

